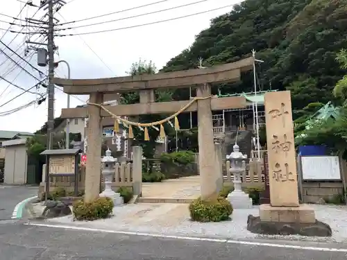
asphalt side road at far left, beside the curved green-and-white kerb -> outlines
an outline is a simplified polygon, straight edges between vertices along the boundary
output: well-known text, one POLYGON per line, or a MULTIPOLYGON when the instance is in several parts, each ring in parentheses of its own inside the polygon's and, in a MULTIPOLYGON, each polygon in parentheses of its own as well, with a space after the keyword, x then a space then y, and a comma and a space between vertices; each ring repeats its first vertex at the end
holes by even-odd
POLYGON ((17 203, 37 195, 37 187, 0 186, 0 220, 10 219, 17 203))

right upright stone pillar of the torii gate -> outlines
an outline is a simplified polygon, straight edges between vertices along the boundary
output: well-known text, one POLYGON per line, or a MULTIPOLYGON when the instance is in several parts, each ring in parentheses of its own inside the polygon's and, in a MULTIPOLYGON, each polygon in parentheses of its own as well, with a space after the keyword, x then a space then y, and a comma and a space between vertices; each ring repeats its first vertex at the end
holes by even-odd
MULTIPOLYGON (((200 85, 196 96, 211 95, 208 84, 200 85)), ((208 200, 217 198, 220 174, 216 171, 214 141, 212 130, 211 99, 198 100, 198 164, 201 177, 201 198, 208 200)))

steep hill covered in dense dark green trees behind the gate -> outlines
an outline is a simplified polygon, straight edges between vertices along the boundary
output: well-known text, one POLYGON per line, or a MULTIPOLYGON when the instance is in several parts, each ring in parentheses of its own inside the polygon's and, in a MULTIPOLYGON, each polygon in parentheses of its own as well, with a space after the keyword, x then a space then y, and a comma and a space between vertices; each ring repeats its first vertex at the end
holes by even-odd
MULTIPOLYGON (((257 67, 262 89, 290 89, 294 109, 328 102, 332 88, 346 71, 335 60, 347 49, 346 0, 246 0, 214 18, 195 42, 172 58, 162 71, 233 62, 257 51, 264 63, 257 67)), ((248 92, 248 73, 224 92, 248 92)))

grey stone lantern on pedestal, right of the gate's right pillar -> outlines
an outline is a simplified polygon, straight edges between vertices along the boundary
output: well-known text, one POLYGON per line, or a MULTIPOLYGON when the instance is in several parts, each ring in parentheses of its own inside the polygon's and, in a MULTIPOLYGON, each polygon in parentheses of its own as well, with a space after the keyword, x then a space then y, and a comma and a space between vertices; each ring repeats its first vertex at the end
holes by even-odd
POLYGON ((233 152, 226 156, 226 159, 230 160, 230 173, 234 175, 234 191, 228 194, 228 200, 230 201, 234 209, 250 209, 253 205, 253 201, 249 198, 247 193, 242 191, 241 175, 246 171, 247 155, 243 155, 239 151, 239 146, 235 144, 233 146, 233 152))

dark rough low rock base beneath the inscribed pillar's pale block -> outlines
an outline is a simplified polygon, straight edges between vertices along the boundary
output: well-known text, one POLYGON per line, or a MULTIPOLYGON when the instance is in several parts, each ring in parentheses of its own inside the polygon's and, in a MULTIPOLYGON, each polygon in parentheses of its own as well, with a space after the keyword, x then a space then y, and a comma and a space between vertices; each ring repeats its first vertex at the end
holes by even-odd
POLYGON ((316 220, 315 223, 283 223, 262 221, 260 217, 252 215, 247 220, 248 231, 265 235, 294 235, 301 236, 331 236, 329 225, 316 220))

